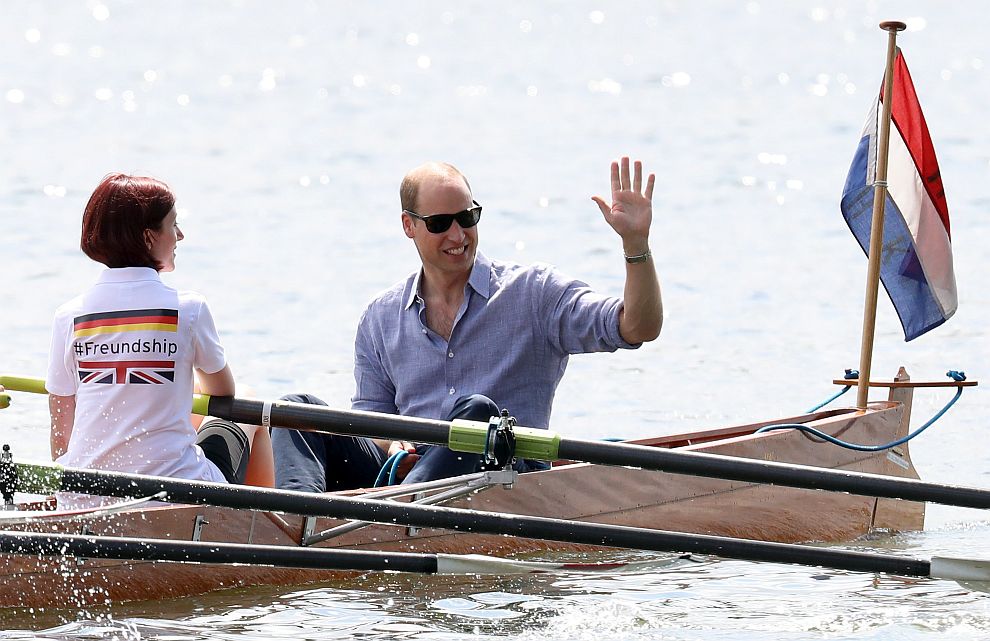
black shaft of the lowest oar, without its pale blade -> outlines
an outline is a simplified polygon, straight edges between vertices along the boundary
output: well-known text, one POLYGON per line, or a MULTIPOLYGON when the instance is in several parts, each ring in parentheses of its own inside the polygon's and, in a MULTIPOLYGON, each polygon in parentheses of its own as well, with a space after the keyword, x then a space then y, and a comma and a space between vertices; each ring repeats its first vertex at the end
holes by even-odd
POLYGON ((435 554, 366 552, 282 545, 240 545, 127 539, 114 536, 79 536, 35 532, 0 532, 0 552, 42 556, 80 556, 141 561, 196 561, 199 563, 247 563, 316 570, 395 570, 435 574, 435 554))

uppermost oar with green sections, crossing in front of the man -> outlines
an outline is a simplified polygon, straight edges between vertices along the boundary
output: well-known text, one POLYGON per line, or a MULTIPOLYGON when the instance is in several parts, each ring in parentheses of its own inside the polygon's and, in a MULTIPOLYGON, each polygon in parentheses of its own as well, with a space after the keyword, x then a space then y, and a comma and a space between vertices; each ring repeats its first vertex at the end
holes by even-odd
MULTIPOLYGON (((44 392, 44 382, 37 379, 0 376, 0 384, 18 391, 44 392)), ((447 422, 287 401, 258 401, 219 396, 197 396, 193 401, 193 411, 238 423, 433 443, 446 445, 457 452, 473 454, 485 452, 489 431, 487 423, 474 421, 447 422)), ((551 430, 517 427, 515 445, 515 454, 520 458, 543 461, 566 459, 748 483, 772 483, 786 487, 849 492, 863 496, 990 508, 990 490, 982 488, 823 469, 809 465, 757 461, 704 452, 685 452, 632 443, 564 438, 551 430)))

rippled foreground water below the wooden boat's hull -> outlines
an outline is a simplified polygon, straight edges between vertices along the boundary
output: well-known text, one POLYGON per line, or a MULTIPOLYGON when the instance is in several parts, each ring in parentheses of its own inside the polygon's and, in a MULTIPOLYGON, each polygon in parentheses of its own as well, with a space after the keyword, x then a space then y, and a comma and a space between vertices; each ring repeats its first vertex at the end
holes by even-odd
MULTIPOLYGON (((988 532, 984 526, 978 535, 988 532)), ((943 545, 955 538, 934 536, 943 545)), ((913 554, 917 537, 856 549, 913 554)), ((41 634, 17 632, 18 620, 9 619, 0 638, 968 639, 990 626, 990 598, 945 581, 696 559, 632 575, 379 573, 316 588, 215 593, 69 618, 41 634)))

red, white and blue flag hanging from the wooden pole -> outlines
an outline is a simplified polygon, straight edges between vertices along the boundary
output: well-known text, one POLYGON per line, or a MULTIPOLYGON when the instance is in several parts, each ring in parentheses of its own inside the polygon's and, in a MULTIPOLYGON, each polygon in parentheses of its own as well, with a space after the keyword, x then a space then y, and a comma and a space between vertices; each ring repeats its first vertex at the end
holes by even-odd
MULTIPOLYGON (((842 191, 842 216, 860 247, 870 253, 873 183, 883 101, 881 88, 842 191)), ((880 279, 909 341, 956 311, 949 210, 928 125, 900 49, 894 60, 890 152, 884 206, 880 279)))

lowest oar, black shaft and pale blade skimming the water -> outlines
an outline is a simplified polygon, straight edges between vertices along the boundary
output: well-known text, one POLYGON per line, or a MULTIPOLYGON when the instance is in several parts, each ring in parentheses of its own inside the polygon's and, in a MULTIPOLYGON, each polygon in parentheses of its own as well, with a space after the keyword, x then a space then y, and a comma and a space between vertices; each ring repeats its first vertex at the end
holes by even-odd
POLYGON ((303 548, 286 545, 207 543, 116 536, 0 531, 0 552, 25 556, 78 556, 91 559, 178 561, 265 565, 311 570, 381 570, 419 574, 609 573, 658 570, 682 561, 631 563, 553 563, 517 561, 482 554, 431 554, 303 548))

